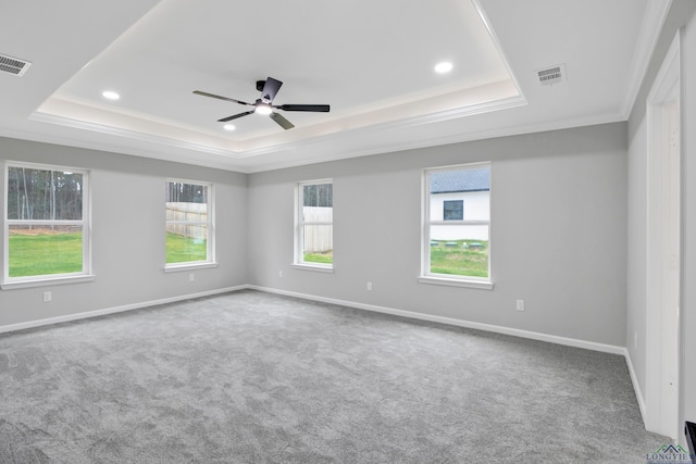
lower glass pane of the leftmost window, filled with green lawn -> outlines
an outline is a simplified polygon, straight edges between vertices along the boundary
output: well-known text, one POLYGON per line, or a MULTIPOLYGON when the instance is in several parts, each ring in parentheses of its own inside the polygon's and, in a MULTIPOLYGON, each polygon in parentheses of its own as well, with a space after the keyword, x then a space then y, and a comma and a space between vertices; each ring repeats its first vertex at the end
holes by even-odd
POLYGON ((83 271, 82 226, 11 225, 8 250, 10 277, 83 271))

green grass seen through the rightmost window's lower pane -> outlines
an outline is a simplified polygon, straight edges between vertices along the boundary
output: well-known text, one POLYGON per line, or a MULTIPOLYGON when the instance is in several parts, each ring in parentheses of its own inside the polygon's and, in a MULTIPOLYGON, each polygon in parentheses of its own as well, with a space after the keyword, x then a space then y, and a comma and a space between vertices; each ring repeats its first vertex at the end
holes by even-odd
POLYGON ((484 240, 433 240, 431 273, 488 277, 488 242, 484 240), (446 244, 450 244, 449 247, 446 244), (456 246, 452 246, 457 243, 456 246), (467 243, 467 248, 463 244, 467 243), (481 243, 472 248, 471 243, 481 243))

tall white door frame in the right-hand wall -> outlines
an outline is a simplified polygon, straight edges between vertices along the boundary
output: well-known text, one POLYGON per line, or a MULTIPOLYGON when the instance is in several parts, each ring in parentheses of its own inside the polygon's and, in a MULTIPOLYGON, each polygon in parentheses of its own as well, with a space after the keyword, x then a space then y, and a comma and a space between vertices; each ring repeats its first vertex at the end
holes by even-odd
POLYGON ((680 432, 681 70, 676 34, 647 99, 645 426, 680 432))

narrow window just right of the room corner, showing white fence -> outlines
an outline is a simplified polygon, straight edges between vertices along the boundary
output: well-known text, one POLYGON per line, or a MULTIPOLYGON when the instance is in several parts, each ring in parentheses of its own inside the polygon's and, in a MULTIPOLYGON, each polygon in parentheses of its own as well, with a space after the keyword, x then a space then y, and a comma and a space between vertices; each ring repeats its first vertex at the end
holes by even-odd
POLYGON ((334 189, 332 180, 300 183, 297 186, 295 263, 333 268, 334 189))

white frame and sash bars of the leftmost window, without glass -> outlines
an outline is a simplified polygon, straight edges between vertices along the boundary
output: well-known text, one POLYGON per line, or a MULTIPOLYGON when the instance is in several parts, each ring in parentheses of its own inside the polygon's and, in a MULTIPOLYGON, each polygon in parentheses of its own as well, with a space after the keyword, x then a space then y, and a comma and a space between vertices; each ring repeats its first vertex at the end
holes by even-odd
POLYGON ((27 287, 40 287, 48 285, 59 284, 73 284, 91 281, 95 276, 91 273, 91 190, 89 185, 89 171, 80 170, 77 167, 59 166, 52 164, 35 164, 5 161, 4 170, 4 185, 3 185, 3 243, 2 243, 2 280, 0 281, 0 288, 2 290, 11 290, 15 288, 27 287), (37 171, 51 171, 51 172, 72 172, 83 176, 83 190, 82 190, 82 220, 62 221, 62 220, 10 220, 8 217, 8 188, 9 188, 9 175, 11 167, 24 167, 27 170, 37 171), (53 226, 79 226, 83 231, 83 269, 75 273, 64 274, 47 274, 37 276, 23 276, 23 277, 10 277, 10 226, 13 225, 53 225, 53 226))

